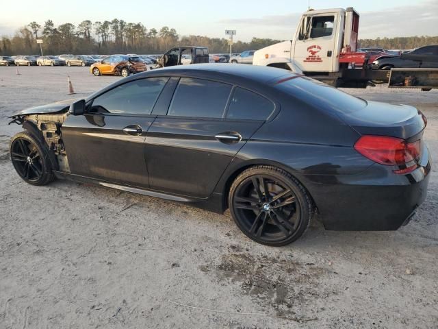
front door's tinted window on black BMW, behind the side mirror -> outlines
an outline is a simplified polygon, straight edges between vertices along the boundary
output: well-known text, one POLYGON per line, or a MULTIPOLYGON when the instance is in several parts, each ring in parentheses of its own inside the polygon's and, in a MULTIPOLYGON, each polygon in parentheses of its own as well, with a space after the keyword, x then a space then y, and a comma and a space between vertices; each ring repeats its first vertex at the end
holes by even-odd
POLYGON ((151 114, 168 77, 151 77, 118 86, 96 97, 90 112, 151 114))

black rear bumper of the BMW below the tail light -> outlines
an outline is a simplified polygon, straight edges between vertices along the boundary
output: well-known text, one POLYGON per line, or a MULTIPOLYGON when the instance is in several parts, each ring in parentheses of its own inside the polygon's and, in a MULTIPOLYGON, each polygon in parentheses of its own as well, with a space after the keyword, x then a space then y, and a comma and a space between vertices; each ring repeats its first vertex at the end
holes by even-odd
POLYGON ((424 149, 421 167, 407 175, 376 164, 360 175, 332 176, 335 184, 311 182, 309 192, 324 228, 380 231, 406 225, 427 195, 431 162, 424 149))

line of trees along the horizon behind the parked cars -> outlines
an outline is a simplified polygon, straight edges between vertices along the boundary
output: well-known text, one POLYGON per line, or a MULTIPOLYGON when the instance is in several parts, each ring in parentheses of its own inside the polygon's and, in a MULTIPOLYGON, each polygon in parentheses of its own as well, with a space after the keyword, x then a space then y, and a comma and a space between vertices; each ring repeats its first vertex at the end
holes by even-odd
MULTIPOLYGON (((179 36, 167 26, 161 29, 146 29, 142 23, 112 21, 82 21, 78 25, 64 23, 55 27, 50 19, 40 25, 36 21, 18 29, 12 37, 0 38, 0 55, 38 55, 40 47, 36 39, 42 39, 45 55, 60 53, 110 54, 110 53, 164 53, 164 51, 185 45, 209 48, 210 53, 227 53, 227 38, 207 36, 179 36)), ((281 40, 253 38, 250 42, 237 41, 233 52, 261 49, 281 40)), ((376 38, 359 40, 360 47, 383 47, 385 49, 413 49, 423 45, 437 45, 438 36, 409 36, 398 38, 376 38)))

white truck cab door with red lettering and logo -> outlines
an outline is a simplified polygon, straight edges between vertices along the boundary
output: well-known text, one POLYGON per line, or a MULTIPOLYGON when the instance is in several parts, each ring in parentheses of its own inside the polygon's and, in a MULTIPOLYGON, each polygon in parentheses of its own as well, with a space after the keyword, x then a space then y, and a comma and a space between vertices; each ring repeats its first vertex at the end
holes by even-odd
POLYGON ((303 16, 294 42, 294 64, 302 71, 333 71, 338 21, 339 14, 335 12, 303 16))

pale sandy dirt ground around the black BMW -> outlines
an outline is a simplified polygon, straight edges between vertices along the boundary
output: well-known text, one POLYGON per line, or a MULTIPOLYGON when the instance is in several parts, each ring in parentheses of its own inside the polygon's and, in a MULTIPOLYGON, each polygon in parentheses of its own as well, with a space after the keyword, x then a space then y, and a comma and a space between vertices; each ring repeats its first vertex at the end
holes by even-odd
MULTIPOLYGON (((14 112, 86 97, 120 77, 81 67, 0 67, 0 328, 437 328, 438 175, 408 226, 329 232, 287 247, 247 239, 229 212, 99 186, 30 186, 10 164, 14 112)), ((428 117, 438 90, 348 89, 428 117)), ((335 205, 334 205, 335 206, 335 205)))

